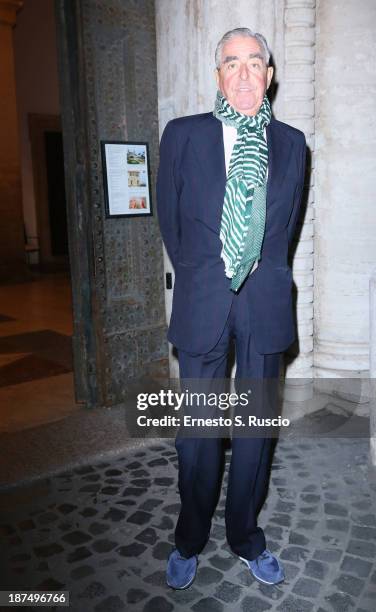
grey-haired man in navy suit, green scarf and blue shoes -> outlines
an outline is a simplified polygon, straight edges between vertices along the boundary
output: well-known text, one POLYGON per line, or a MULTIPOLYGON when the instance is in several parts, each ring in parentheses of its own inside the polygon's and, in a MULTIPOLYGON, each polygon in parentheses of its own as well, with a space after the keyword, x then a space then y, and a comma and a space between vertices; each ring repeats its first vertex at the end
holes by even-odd
MULTIPOLYGON (((291 243, 304 182, 302 132, 271 117, 273 68, 264 37, 227 32, 216 50, 214 112, 170 121, 157 180, 160 228, 175 270, 168 338, 182 379, 223 379, 235 339, 236 378, 276 379, 293 342, 291 243), (227 175, 227 176, 226 176, 227 175)), ((267 486, 269 438, 232 439, 226 535, 266 584, 284 579, 257 512, 267 486)), ((192 584, 218 500, 219 438, 175 442, 181 510, 167 584, 192 584)))

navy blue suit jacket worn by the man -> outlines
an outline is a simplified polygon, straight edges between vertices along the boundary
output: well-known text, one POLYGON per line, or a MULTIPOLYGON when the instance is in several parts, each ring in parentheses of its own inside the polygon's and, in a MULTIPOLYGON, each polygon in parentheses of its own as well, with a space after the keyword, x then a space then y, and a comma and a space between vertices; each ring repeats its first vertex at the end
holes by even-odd
MULTIPOLYGON (((247 293, 250 328, 259 353, 284 351, 295 339, 288 246, 304 183, 306 144, 299 130, 272 119, 266 226, 257 269, 247 293)), ((222 123, 212 113, 170 121, 162 136, 157 210, 175 270, 168 339, 192 354, 218 342, 234 293, 225 276, 219 238, 226 187, 222 123)))

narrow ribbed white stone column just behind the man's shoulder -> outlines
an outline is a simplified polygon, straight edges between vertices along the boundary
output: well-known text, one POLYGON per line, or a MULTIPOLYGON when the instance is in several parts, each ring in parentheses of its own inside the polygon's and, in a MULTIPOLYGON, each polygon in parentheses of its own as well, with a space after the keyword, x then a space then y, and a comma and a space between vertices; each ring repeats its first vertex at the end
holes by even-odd
POLYGON ((292 401, 310 398, 313 387, 315 5, 316 0, 286 0, 284 13, 282 119, 302 130, 307 140, 306 185, 293 258, 298 339, 286 359, 285 397, 292 401))

